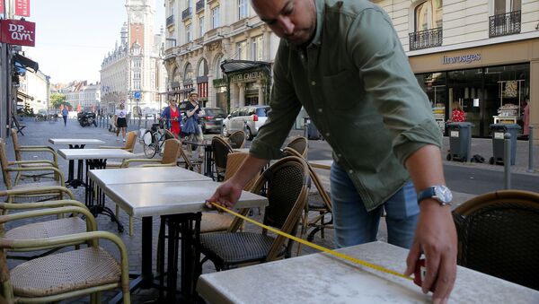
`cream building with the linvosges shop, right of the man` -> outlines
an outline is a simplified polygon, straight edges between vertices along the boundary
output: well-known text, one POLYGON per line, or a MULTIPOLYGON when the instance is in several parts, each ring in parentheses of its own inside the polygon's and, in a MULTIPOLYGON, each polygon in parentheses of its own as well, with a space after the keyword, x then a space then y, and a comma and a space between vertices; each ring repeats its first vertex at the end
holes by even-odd
POLYGON ((441 129, 454 102, 473 136, 490 136, 493 123, 524 126, 526 102, 528 124, 539 124, 539 1, 375 3, 392 17, 441 129))

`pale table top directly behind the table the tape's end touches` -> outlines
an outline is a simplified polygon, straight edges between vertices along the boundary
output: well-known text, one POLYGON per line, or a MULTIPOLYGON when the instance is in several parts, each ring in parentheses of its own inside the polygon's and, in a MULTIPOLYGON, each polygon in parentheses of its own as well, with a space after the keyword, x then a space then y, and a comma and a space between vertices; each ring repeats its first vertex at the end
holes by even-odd
POLYGON ((180 167, 132 167, 122 169, 92 169, 88 177, 99 187, 113 184, 163 183, 211 178, 180 167))

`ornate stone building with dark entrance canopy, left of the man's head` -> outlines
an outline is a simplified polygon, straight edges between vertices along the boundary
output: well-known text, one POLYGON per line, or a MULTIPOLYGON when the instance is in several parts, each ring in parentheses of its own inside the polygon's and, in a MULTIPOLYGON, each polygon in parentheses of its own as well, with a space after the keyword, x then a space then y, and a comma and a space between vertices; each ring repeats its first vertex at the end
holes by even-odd
POLYGON ((249 0, 164 1, 164 65, 168 97, 199 92, 206 107, 225 110, 269 101, 270 66, 278 37, 261 22, 249 0), (221 64, 243 61, 224 77, 221 64))

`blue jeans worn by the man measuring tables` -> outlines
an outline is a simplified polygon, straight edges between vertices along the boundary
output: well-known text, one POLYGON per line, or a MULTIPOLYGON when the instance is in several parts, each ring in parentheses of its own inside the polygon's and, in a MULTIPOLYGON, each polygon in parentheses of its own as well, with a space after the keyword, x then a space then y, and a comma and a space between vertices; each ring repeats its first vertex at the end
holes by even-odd
POLYGON ((411 182, 375 210, 367 212, 358 191, 345 170, 331 165, 331 204, 337 248, 376 240, 383 208, 386 213, 387 240, 410 248, 420 213, 418 198, 411 182))

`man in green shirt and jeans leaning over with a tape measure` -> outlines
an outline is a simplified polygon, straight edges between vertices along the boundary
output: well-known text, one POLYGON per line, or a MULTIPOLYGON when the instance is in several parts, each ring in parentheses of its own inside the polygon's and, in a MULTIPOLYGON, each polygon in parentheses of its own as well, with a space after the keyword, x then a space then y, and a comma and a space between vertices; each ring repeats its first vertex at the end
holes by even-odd
POLYGON ((333 149, 337 247, 376 240, 385 210, 388 241, 411 248, 405 274, 424 254, 422 290, 434 289, 433 300, 446 302, 456 276, 456 231, 441 136, 391 18, 367 0, 252 0, 252 8, 281 38, 271 110, 250 156, 208 206, 234 206, 243 186, 282 155, 303 106, 333 149))

